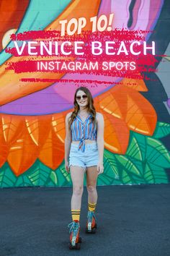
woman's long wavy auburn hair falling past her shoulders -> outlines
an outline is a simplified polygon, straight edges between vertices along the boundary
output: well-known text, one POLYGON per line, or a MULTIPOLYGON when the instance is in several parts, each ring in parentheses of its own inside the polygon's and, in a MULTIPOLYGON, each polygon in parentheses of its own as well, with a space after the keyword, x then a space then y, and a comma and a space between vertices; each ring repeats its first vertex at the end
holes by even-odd
POLYGON ((92 121, 93 121, 94 125, 97 126, 96 110, 94 108, 94 100, 92 98, 91 92, 88 88, 81 86, 80 88, 76 89, 76 92, 74 94, 74 102, 73 102, 74 103, 74 111, 72 112, 70 119, 68 121, 69 129, 71 129, 71 124, 73 123, 73 120, 76 118, 78 111, 79 111, 79 104, 76 101, 76 94, 79 90, 82 90, 84 93, 86 93, 87 101, 88 101, 86 108, 87 108, 87 111, 92 115, 92 121))

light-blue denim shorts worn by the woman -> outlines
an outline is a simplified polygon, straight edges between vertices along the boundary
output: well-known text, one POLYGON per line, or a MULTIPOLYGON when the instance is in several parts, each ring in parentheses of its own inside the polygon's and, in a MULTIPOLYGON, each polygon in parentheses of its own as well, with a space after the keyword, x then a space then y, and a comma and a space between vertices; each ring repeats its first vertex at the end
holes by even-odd
POLYGON ((97 141, 86 144, 84 152, 81 149, 78 150, 78 148, 79 144, 71 143, 68 168, 70 166, 81 166, 86 172, 86 167, 97 166, 99 162, 97 141))

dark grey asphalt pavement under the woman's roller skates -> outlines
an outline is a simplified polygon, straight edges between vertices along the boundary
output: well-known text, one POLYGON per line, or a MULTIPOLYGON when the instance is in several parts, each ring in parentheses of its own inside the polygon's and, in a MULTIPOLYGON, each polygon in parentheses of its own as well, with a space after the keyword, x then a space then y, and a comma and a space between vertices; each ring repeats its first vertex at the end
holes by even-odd
POLYGON ((170 255, 170 184, 98 186, 97 194, 97 232, 85 233, 84 187, 81 249, 70 250, 72 187, 0 189, 0 255, 170 255))

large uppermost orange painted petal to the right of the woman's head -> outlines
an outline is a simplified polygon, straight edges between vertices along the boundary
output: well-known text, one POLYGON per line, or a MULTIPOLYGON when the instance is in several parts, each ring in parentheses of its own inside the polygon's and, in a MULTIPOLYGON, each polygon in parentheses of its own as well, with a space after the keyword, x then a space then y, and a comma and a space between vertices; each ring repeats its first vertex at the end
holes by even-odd
POLYGON ((156 111, 138 91, 123 85, 116 85, 95 98, 99 111, 122 119, 129 129, 143 135, 153 135, 156 128, 156 111), (98 101, 98 102, 97 102, 98 101))

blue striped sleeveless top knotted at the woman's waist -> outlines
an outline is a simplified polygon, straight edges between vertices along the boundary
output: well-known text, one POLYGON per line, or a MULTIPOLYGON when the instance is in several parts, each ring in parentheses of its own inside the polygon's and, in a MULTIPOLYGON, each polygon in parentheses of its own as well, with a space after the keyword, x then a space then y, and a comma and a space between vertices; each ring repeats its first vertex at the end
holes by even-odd
POLYGON ((97 140, 97 124, 93 124, 92 114, 89 114, 84 122, 81 120, 79 114, 77 114, 71 124, 71 134, 72 140, 80 140, 79 150, 83 152, 85 150, 84 140, 97 140))

